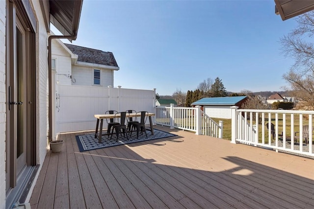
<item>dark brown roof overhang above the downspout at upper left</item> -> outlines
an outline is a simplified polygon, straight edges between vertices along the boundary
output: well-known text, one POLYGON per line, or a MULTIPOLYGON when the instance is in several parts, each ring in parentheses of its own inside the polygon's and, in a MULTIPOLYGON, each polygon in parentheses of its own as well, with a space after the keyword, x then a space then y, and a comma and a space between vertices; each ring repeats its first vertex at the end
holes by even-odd
POLYGON ((76 40, 83 0, 40 0, 47 32, 52 23, 64 36, 76 40))

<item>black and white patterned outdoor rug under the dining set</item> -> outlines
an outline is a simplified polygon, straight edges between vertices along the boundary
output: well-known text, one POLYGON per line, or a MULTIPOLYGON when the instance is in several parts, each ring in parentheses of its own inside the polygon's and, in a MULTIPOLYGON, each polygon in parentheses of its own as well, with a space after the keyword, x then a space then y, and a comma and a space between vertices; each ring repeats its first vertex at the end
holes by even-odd
POLYGON ((76 136, 76 139, 78 142, 79 151, 84 152, 84 151, 102 149, 102 148, 117 146, 117 145, 122 145, 122 144, 130 144, 130 143, 139 142, 139 141, 147 141, 147 140, 177 136, 175 134, 170 134, 170 133, 160 131, 157 129, 154 129, 154 135, 152 135, 150 129, 146 129, 146 133, 147 133, 147 137, 144 132, 143 132, 143 135, 139 133, 138 139, 136 139, 136 131, 132 133, 131 137, 128 136, 129 139, 124 138, 122 134, 122 137, 121 135, 119 136, 118 141, 116 141, 117 138, 114 133, 111 140, 110 140, 111 135, 102 136, 102 143, 98 143, 98 138, 95 139, 95 134, 78 135, 76 136))

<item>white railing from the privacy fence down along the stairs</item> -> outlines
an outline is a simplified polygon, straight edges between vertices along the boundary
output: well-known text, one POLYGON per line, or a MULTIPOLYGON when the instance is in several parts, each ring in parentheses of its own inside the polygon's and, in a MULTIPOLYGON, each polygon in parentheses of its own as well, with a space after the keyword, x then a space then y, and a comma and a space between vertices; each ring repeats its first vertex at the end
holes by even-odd
POLYGON ((196 107, 156 107, 155 122, 158 125, 193 131, 197 135, 222 138, 223 122, 219 124, 206 115, 201 106, 196 107))

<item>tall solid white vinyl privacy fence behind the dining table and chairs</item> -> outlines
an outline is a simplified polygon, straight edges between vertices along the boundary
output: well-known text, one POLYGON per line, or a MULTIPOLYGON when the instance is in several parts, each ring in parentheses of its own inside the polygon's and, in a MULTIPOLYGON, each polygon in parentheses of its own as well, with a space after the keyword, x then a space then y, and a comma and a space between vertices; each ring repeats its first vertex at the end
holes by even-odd
POLYGON ((155 89, 58 85, 55 97, 55 133, 93 130, 96 127, 94 115, 105 114, 107 110, 154 113, 155 97, 155 89))

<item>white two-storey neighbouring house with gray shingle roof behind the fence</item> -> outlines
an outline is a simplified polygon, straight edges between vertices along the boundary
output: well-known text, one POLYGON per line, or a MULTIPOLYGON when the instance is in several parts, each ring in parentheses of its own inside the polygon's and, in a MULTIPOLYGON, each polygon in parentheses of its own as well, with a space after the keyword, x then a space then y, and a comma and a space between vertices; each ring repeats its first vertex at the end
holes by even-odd
POLYGON ((52 70, 63 85, 113 86, 114 70, 119 70, 112 52, 64 44, 52 40, 52 70))

